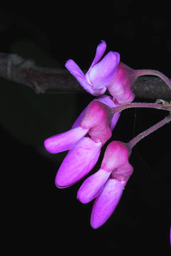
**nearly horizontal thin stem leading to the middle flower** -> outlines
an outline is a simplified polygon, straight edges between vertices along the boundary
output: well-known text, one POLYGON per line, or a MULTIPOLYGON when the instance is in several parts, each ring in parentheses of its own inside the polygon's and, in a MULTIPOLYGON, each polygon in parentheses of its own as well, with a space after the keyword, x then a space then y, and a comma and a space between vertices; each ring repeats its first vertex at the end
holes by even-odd
POLYGON ((114 107, 113 111, 115 114, 116 112, 121 112, 122 110, 126 110, 131 107, 148 107, 148 108, 155 108, 157 110, 167 110, 171 112, 170 106, 165 107, 162 104, 157 104, 157 103, 139 103, 139 102, 127 103, 118 107, 114 107))

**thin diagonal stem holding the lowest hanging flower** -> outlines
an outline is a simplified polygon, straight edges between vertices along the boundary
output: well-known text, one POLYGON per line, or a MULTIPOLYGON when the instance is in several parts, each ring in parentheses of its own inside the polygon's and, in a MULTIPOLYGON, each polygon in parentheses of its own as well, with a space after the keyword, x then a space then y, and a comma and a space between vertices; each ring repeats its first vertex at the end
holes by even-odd
POLYGON ((143 139, 144 137, 147 137, 152 132, 155 132, 157 129, 159 129, 163 125, 168 124, 170 121, 171 121, 171 114, 165 117, 164 119, 162 119, 162 121, 146 129, 144 132, 141 132, 135 138, 131 139, 131 141, 128 142, 128 146, 130 146, 132 149, 133 146, 135 146, 138 142, 140 142, 141 139, 143 139))

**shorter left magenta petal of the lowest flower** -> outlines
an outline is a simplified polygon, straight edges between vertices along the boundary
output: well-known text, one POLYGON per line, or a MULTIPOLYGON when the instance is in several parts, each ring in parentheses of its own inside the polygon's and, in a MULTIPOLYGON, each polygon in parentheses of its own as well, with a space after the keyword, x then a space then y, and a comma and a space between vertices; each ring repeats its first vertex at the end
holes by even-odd
POLYGON ((77 199, 82 203, 89 203, 96 198, 96 196, 98 196, 101 192, 101 189, 103 188, 110 174, 110 172, 99 169, 99 171, 97 171, 95 174, 89 176, 89 178, 87 178, 79 188, 77 199))

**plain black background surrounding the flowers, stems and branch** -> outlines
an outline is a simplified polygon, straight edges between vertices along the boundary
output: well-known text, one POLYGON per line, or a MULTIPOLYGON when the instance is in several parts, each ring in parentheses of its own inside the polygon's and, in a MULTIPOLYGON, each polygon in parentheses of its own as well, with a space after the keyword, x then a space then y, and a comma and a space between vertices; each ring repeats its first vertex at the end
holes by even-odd
MULTIPOLYGON (((72 58, 86 70, 96 46, 104 40, 106 52, 117 51, 131 68, 156 69, 171 77, 170 6, 150 6, 149 1, 112 3, 2 6, 0 52, 17 53, 48 68, 64 68, 65 61, 72 58)), ((82 181, 63 190, 55 187, 55 174, 66 152, 51 155, 43 148, 44 139, 70 129, 92 96, 74 92, 37 95, 15 82, 1 78, 0 83, 1 212, 6 252, 169 255, 170 124, 133 149, 134 172, 121 201, 106 224, 93 230, 89 224, 92 203, 83 205, 76 198, 82 181)), ((128 142, 166 114, 126 110, 112 140, 128 142)))

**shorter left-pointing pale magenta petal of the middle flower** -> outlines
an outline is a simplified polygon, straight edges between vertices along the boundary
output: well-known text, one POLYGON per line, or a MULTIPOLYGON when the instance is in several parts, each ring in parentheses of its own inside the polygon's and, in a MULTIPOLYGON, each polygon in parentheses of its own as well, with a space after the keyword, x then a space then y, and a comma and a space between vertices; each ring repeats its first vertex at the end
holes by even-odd
POLYGON ((44 142, 45 149, 52 154, 72 149, 72 146, 74 146, 79 139, 84 137, 88 130, 89 129, 83 129, 82 127, 76 127, 70 129, 68 132, 50 137, 44 142))

